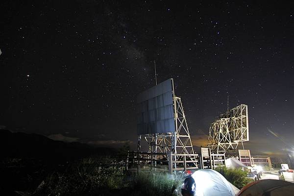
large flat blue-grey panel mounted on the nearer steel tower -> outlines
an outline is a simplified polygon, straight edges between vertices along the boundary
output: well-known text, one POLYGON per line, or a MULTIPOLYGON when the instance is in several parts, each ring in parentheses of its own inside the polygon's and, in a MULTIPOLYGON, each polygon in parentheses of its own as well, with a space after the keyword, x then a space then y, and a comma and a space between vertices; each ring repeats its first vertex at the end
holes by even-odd
POLYGON ((137 133, 174 132, 172 79, 140 93, 137 97, 137 133))

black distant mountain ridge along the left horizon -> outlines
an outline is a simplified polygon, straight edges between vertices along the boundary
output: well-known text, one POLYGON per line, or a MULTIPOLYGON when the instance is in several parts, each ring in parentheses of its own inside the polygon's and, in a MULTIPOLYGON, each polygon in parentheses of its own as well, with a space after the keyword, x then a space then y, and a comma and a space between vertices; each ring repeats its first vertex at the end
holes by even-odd
POLYGON ((1 158, 76 159, 116 153, 111 148, 95 148, 79 142, 54 141, 39 134, 0 130, 1 158))

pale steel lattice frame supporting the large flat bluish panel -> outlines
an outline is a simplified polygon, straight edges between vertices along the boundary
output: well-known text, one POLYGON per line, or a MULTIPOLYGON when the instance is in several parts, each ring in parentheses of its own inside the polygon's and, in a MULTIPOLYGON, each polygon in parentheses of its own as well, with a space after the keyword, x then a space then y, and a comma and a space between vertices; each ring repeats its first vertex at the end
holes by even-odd
MULTIPOLYGON (((184 113, 182 101, 180 97, 174 95, 174 87, 172 82, 172 94, 173 94, 173 107, 174 107, 174 123, 175 132, 169 133, 155 133, 138 135, 138 151, 141 148, 141 138, 145 138, 148 144, 148 153, 154 154, 154 160, 160 158, 168 160, 168 154, 194 154, 193 145, 184 113), (157 156, 156 154, 160 154, 157 156)), ((188 156, 187 156, 188 157, 188 156)), ((183 156, 175 155, 174 160, 181 160, 183 156)), ((196 156, 188 157, 193 161, 196 161, 196 156)), ((155 163, 156 165, 156 163, 155 163)), ((176 167, 176 166, 174 166, 176 167)))

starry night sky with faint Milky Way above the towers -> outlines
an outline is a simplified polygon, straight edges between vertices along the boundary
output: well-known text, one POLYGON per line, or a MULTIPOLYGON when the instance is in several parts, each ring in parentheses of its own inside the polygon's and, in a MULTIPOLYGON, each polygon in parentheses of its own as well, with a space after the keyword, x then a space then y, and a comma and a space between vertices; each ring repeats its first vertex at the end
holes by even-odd
POLYGON ((195 145, 207 144, 229 94, 230 108, 248 105, 245 148, 290 148, 294 3, 177 2, 1 2, 0 128, 135 146, 136 97, 155 85, 155 60, 195 145))

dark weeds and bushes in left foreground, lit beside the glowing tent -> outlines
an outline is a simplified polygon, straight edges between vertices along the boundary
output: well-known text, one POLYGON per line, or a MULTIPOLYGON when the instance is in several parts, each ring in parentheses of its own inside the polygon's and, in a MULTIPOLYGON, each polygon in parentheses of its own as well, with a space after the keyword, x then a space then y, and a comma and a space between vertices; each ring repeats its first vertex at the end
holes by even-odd
POLYGON ((83 159, 62 173, 49 175, 34 193, 24 196, 174 196, 181 182, 181 174, 142 171, 129 176, 120 165, 101 167, 83 159))

